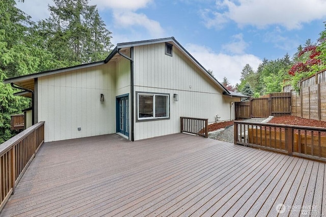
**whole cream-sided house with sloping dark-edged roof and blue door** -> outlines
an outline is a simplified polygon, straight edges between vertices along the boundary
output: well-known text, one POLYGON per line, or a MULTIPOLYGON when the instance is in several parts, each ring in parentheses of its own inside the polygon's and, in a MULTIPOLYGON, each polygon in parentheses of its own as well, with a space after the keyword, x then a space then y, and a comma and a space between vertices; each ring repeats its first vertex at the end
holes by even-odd
POLYGON ((232 103, 241 97, 173 37, 120 43, 103 61, 5 83, 23 90, 16 95, 33 98, 33 122, 45 121, 45 142, 112 133, 131 141, 174 134, 180 132, 180 116, 234 119, 232 103))

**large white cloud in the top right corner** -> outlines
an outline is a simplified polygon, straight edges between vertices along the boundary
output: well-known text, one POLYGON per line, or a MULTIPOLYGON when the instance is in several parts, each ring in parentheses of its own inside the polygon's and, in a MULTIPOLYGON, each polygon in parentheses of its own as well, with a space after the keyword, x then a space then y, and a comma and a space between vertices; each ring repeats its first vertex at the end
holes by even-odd
POLYGON ((325 10, 324 0, 221 0, 216 2, 216 10, 207 9, 202 16, 207 27, 221 28, 232 20, 240 27, 254 25, 263 28, 279 24, 287 29, 298 29, 302 23, 325 18, 325 10))

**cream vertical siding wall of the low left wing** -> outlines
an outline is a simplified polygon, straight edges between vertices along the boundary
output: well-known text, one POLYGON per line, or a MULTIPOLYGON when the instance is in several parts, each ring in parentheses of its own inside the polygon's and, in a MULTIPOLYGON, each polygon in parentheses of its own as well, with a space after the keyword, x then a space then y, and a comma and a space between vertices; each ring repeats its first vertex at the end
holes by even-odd
POLYGON ((116 132, 115 65, 38 78, 38 119, 45 121, 45 142, 116 132))

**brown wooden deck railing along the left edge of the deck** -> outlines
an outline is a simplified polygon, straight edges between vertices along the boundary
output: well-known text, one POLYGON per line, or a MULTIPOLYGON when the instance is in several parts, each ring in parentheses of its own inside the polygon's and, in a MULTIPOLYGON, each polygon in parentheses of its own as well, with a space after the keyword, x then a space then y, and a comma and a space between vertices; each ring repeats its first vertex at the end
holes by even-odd
POLYGON ((44 142, 44 121, 0 144, 0 211, 44 142))

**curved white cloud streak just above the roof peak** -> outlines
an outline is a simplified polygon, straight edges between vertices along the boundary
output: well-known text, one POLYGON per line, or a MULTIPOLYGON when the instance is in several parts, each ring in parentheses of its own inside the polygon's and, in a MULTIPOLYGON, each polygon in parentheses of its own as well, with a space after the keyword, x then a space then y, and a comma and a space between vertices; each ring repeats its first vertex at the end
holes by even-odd
POLYGON ((115 11, 113 16, 117 28, 134 28, 141 26, 147 30, 151 37, 157 38, 164 35, 164 29, 160 26, 159 22, 149 19, 145 14, 130 11, 115 11))

